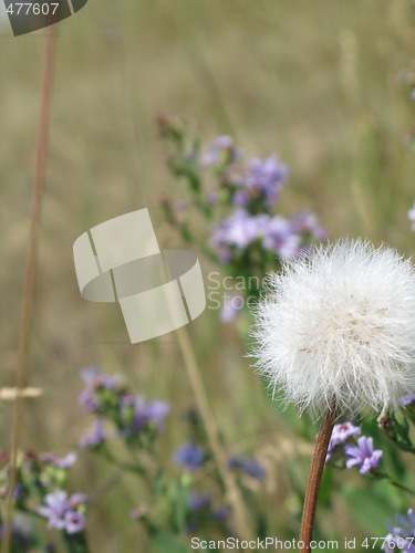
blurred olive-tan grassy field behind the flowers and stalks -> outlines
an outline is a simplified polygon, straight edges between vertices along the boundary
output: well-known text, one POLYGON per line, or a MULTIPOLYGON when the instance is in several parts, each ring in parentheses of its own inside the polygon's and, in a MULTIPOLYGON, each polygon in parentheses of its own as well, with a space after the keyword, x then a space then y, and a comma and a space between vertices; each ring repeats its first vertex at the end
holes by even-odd
MULTIPOLYGON (((258 156, 277 152, 291 171, 286 213, 310 208, 331 238, 363 236, 413 253, 415 154, 404 138, 414 104, 400 75, 414 28, 409 0, 90 0, 59 25, 30 362, 30 384, 44 394, 25 404, 25 446, 75 447, 87 425, 75 403, 77 368, 89 363, 172 403, 166 456, 183 439, 193 397, 174 334, 131 346, 116 306, 82 300, 72 259, 79 234, 141 207, 162 247, 180 244, 157 207, 159 194, 181 194, 163 165, 159 113, 180 113, 206 140, 229 133, 258 156)), ((0 358, 1 385, 13 385, 45 39, 0 28, 0 358)), ((230 449, 283 451, 289 431, 270 413, 237 330, 212 311, 188 330, 230 449)), ((10 405, 0 407, 7 444, 10 405)), ((106 466, 89 455, 77 465, 74 488, 104 489, 106 466)), ((271 465, 276 490, 264 502, 283 532, 299 505, 284 502, 281 465, 271 465)), ((145 551, 128 520, 141 493, 125 481, 96 495, 94 551, 145 551)), ((335 509, 340 533, 360 531, 335 509)))

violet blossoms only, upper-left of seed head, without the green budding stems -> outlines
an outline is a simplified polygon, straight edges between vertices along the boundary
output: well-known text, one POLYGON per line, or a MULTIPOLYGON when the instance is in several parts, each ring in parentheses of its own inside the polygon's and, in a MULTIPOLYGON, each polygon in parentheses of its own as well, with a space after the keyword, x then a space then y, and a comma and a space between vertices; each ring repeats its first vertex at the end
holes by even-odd
POLYGON ((211 238, 221 263, 239 259, 250 247, 289 260, 310 242, 325 240, 313 213, 301 212, 291 219, 272 215, 288 176, 287 166, 277 156, 245 160, 229 136, 219 136, 204 160, 214 168, 222 196, 235 209, 211 238))

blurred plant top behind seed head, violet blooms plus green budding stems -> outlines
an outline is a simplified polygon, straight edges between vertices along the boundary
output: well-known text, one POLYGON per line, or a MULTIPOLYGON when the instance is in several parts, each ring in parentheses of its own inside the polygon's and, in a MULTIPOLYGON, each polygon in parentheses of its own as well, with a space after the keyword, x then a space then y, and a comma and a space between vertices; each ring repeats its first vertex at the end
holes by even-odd
POLYGON ((267 272, 325 240, 326 232, 310 211, 290 217, 277 212, 289 173, 277 155, 246 155, 230 136, 219 136, 205 148, 198 137, 189 139, 177 118, 160 117, 158 123, 168 147, 167 166, 187 187, 186 199, 163 197, 167 222, 228 276, 247 282, 242 292, 234 286, 211 306, 221 310, 224 322, 231 321, 258 300, 267 272), (190 207, 199 216, 197 228, 190 207), (252 276, 258 279, 255 285, 252 276))

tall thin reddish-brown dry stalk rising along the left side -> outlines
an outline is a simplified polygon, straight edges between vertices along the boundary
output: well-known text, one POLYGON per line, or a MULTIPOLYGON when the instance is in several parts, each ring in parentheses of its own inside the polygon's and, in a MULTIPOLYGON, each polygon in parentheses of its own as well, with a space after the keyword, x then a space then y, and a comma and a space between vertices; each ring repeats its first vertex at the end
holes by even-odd
POLYGON ((30 215, 29 243, 24 269, 24 280, 22 289, 21 322, 18 349, 18 366, 15 373, 17 397, 13 403, 12 425, 10 437, 10 469, 9 487, 6 500, 4 529, 2 535, 2 553, 10 550, 10 534, 13 518, 13 489, 15 484, 17 458, 22 430, 23 416, 23 388, 28 380, 30 334, 33 314, 34 283, 38 262, 39 230, 42 212, 42 191, 48 154, 48 131, 52 100, 54 58, 56 35, 54 25, 48 28, 45 35, 45 58, 43 64, 43 85, 41 96, 41 109, 38 125, 38 136, 35 145, 35 161, 32 188, 32 207, 30 215))

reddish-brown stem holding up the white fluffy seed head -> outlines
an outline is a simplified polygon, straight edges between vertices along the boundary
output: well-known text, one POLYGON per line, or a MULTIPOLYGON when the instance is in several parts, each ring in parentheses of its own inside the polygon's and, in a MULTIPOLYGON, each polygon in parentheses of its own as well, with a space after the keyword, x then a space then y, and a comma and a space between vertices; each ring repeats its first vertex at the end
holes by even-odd
POLYGON ((309 481, 307 483, 304 505, 302 511, 300 542, 303 546, 300 547, 300 553, 308 553, 311 551, 310 542, 313 535, 317 501, 319 499, 325 456, 328 453, 329 442, 333 431, 335 418, 336 409, 334 407, 329 408, 324 414, 319 434, 315 437, 314 452, 311 460, 309 481))

